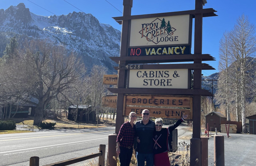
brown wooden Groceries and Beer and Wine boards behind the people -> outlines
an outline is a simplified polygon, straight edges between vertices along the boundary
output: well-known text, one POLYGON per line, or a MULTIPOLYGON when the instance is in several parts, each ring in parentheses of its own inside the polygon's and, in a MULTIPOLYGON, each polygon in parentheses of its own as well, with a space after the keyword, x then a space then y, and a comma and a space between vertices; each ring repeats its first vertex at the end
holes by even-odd
POLYGON ((134 111, 141 117, 143 109, 150 111, 150 117, 180 119, 186 113, 193 119, 193 97, 175 95, 126 94, 124 96, 123 116, 134 111))

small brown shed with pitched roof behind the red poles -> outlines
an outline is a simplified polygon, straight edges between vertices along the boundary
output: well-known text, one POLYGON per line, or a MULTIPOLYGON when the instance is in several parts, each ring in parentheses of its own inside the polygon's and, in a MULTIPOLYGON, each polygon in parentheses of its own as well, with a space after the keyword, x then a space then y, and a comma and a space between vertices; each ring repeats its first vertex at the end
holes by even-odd
POLYGON ((215 131, 215 128, 217 128, 217 131, 220 132, 221 125, 225 124, 227 121, 227 117, 222 115, 220 112, 210 112, 209 114, 205 115, 205 128, 207 128, 208 123, 208 130, 209 131, 215 131))

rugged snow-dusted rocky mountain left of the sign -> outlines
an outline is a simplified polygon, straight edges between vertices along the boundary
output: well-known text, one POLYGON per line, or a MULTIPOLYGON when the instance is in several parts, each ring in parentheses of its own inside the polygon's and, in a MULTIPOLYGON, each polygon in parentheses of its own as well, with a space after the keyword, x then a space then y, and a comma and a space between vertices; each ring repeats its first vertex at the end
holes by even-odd
POLYGON ((39 16, 20 3, 0 10, 0 33, 1 57, 10 38, 16 35, 63 45, 83 57, 89 71, 93 64, 98 64, 116 72, 115 62, 108 57, 119 56, 121 32, 99 23, 92 14, 74 11, 68 15, 39 16))

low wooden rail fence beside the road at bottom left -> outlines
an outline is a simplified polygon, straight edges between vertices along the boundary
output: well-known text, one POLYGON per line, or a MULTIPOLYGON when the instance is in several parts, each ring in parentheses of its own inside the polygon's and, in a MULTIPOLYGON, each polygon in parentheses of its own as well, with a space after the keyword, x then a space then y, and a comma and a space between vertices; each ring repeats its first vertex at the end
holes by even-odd
MULTIPOLYGON (((99 157, 99 166, 105 166, 105 151, 106 151, 106 145, 100 145, 99 153, 72 158, 72 159, 61 161, 61 162, 54 162, 54 163, 43 165, 43 166, 65 166, 65 165, 70 165, 77 162, 82 162, 95 157, 99 157)), ((37 156, 30 157, 29 166, 39 166, 39 157, 37 156)))

